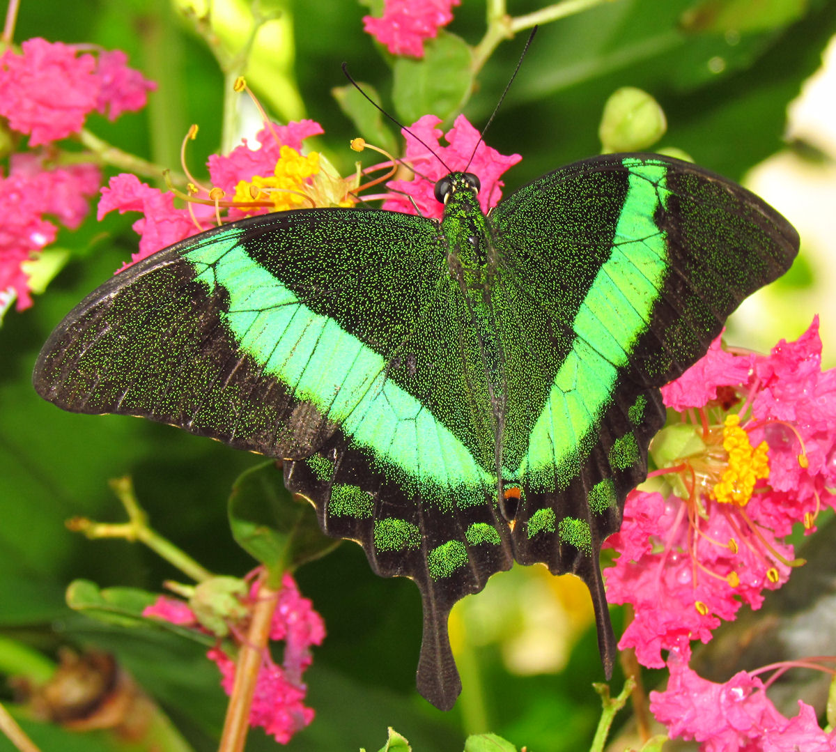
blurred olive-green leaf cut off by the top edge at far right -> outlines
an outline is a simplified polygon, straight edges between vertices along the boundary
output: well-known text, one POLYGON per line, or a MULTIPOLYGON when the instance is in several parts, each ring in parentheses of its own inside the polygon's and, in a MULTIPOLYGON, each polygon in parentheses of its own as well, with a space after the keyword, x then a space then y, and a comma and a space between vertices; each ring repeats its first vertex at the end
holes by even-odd
POLYGON ((808 0, 701 0, 681 16, 689 32, 747 33, 780 28, 807 12, 808 0))

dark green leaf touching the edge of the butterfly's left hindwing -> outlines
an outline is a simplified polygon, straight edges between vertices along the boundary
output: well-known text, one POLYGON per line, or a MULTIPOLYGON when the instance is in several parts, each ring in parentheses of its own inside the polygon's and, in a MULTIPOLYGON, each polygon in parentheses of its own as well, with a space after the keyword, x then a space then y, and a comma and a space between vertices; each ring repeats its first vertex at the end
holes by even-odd
POLYGON ((339 545, 319 529, 314 508, 293 499, 273 460, 238 476, 227 512, 237 544, 278 576, 339 545))

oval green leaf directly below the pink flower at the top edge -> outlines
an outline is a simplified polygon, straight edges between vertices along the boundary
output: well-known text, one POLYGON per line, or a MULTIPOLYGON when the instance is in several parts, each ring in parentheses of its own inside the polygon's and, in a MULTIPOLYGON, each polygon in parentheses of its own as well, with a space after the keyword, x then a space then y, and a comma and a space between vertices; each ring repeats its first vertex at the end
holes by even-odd
POLYGON ((447 120, 464 106, 473 88, 472 55, 466 42, 440 31, 425 44, 423 60, 395 60, 392 100, 407 125, 431 113, 447 120))

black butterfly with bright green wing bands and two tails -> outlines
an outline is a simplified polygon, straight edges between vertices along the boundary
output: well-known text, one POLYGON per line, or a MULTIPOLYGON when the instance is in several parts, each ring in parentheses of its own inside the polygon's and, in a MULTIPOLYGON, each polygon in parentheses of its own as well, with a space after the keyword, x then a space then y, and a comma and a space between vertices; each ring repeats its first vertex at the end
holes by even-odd
POLYGON ((188 238, 89 294, 33 374, 65 410, 283 460, 325 533, 421 590, 417 686, 441 709, 451 606, 514 560, 589 586, 609 676, 599 552, 659 387, 798 253, 762 199, 665 156, 579 161, 487 214, 478 190, 437 182, 440 222, 312 208, 188 238))

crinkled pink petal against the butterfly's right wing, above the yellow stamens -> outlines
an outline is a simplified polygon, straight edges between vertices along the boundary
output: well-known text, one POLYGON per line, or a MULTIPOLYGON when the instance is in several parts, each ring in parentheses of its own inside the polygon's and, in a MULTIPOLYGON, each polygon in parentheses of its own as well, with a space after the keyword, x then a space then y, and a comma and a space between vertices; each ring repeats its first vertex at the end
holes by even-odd
POLYGON ((703 407, 716 399, 718 386, 745 384, 754 356, 736 356, 721 347, 722 335, 711 342, 706 355, 678 379, 662 387, 666 407, 682 412, 688 407, 703 407))

